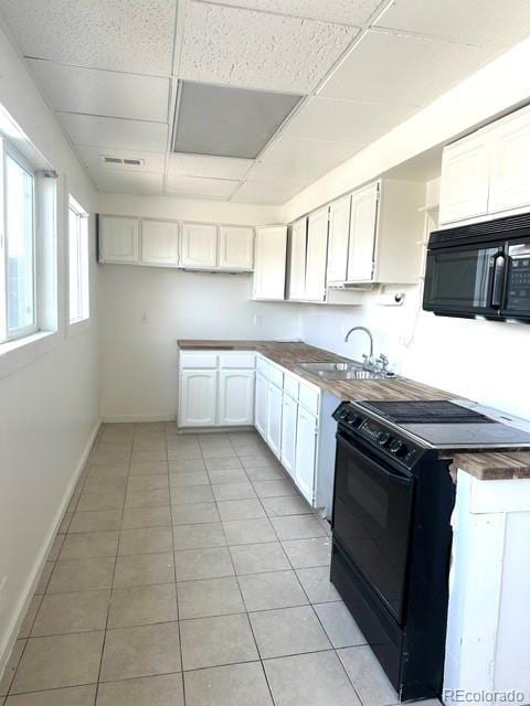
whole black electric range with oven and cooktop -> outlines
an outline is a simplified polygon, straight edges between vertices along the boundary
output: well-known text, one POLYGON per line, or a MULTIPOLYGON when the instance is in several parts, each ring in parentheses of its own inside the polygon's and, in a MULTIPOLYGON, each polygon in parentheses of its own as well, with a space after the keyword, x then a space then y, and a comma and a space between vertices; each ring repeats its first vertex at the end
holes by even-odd
POLYGON ((333 418, 331 581, 400 699, 437 697, 455 501, 447 450, 523 448, 530 434, 446 400, 342 403, 333 418))

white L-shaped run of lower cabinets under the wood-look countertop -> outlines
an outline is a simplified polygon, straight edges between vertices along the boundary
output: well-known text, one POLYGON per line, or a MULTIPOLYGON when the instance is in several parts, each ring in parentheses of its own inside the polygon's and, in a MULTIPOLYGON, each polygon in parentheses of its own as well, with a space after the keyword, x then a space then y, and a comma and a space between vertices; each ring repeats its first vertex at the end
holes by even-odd
POLYGON ((179 427, 254 426, 304 498, 330 516, 339 400, 247 351, 180 351, 179 427))

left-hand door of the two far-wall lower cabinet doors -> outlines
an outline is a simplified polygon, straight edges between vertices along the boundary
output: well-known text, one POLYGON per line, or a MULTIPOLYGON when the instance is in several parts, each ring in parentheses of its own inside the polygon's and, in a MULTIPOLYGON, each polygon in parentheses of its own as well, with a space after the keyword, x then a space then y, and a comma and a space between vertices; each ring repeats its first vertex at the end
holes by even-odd
POLYGON ((216 425, 218 372, 181 371, 179 424, 181 427, 216 425))

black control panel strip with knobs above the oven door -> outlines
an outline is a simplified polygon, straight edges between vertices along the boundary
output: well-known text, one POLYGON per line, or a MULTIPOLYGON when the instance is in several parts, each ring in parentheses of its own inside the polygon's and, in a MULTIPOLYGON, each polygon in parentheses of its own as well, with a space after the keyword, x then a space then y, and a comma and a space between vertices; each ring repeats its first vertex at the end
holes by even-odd
POLYGON ((377 421, 362 411, 351 408, 348 403, 340 405, 335 411, 333 418, 344 430, 370 441, 380 451, 399 460, 407 468, 412 468, 424 451, 410 439, 385 426, 384 422, 377 421))

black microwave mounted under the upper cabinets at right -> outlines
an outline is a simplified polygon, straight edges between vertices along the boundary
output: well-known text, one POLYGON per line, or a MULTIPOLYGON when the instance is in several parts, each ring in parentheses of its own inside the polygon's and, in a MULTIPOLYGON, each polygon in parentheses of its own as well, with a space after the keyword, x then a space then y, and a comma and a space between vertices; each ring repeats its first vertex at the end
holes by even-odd
POLYGON ((530 323, 530 213, 431 233, 423 308, 530 323))

